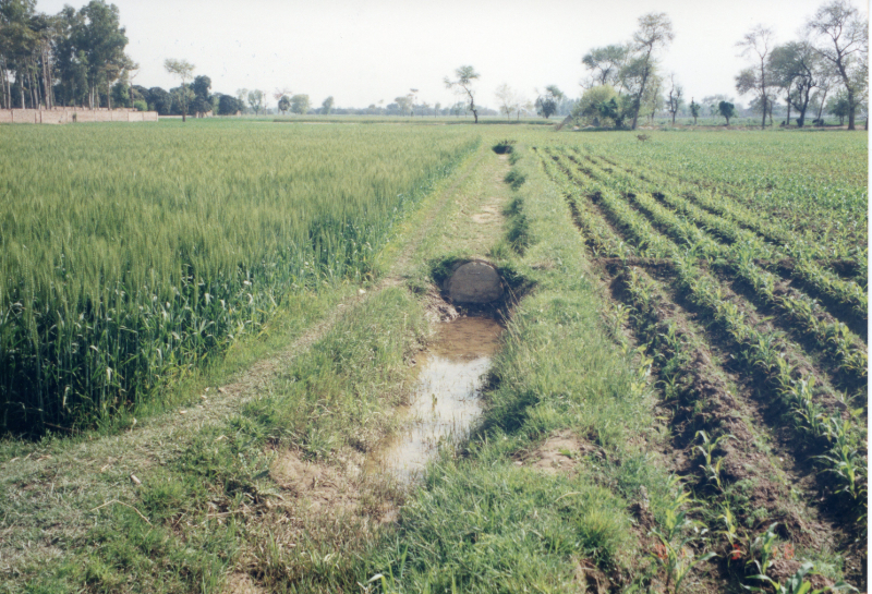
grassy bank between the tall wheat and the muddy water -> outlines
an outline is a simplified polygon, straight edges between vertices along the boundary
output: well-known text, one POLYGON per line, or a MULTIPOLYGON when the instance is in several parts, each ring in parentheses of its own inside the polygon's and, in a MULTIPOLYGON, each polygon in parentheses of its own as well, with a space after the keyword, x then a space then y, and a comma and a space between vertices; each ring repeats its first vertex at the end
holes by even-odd
MULTIPOLYGON (((395 424, 390 411, 404 396, 399 387, 411 373, 407 360, 425 332, 423 308, 405 290, 374 294, 241 413, 177 435, 160 453, 143 452, 146 458, 135 462, 141 486, 112 472, 97 473, 102 480, 94 484, 92 476, 83 489, 74 486, 77 477, 68 475, 75 472, 72 466, 56 470, 60 497, 34 513, 47 495, 22 489, 33 474, 12 466, 0 486, 0 525, 14 525, 17 537, 35 538, 40 547, 46 545, 39 526, 61 522, 64 531, 49 547, 52 555, 58 554, 53 547, 62 551, 55 558, 44 553, 36 560, 25 542, 11 541, 8 550, 16 551, 19 573, 0 592, 218 591, 241 550, 262 550, 270 530, 281 530, 287 519, 283 507, 272 512, 265 507, 267 500, 284 505, 269 476, 275 451, 292 448, 332 464, 343 448, 372 447, 395 424), (117 502, 104 506, 110 500, 117 502)), ((389 487, 371 488, 384 494, 389 487)), ((300 514, 303 508, 295 504, 288 512, 300 514)), ((336 533, 329 543, 350 546, 336 533)), ((261 558, 267 565, 308 568, 306 555, 314 550, 316 545, 286 550, 271 561, 261 558)), ((353 546, 348 554, 353 555, 353 546)))

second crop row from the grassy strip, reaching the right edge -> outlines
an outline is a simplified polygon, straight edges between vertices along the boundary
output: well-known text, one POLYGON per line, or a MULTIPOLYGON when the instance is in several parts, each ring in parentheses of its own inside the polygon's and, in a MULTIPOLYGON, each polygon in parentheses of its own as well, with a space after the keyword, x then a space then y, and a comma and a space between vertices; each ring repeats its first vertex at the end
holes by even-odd
MULTIPOLYGON (((571 171, 566 173, 578 180, 571 171)), ((812 441, 825 440, 828 451, 821 460, 826 462, 826 470, 834 472, 839 477, 840 489, 862 506, 865 493, 864 438, 862 428, 852 421, 859 413, 855 411, 843 417, 837 407, 825 409, 818 401, 820 392, 814 389, 815 376, 797 372, 796 363, 785 356, 786 346, 776 332, 758 330, 748 324, 740 306, 726 299, 718 281, 695 265, 693 246, 679 250, 614 191, 592 180, 581 183, 586 191, 596 193, 597 204, 638 246, 644 246, 647 254, 668 257, 674 263, 677 281, 688 299, 711 315, 739 347, 736 356, 747 371, 763 374, 765 381, 787 405, 798 431, 812 441)))

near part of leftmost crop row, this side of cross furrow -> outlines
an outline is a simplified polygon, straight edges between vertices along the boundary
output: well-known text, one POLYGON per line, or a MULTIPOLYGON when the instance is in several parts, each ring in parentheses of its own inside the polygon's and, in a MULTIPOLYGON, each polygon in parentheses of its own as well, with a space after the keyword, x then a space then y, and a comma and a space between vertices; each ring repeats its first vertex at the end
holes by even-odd
MULTIPOLYGON (((755 536, 761 510, 741 501, 767 501, 767 512, 784 514, 780 506, 789 495, 773 482, 778 471, 768 457, 748 456, 753 434, 737 417, 737 396, 718 375, 711 357, 705 354, 704 341, 688 320, 678 322, 679 314, 675 313, 675 307, 670 307, 662 286, 633 267, 625 268, 618 278, 623 289, 620 299, 627 300, 634 312, 631 316, 633 326, 647 343, 664 398, 670 403, 674 399, 678 401, 678 407, 670 405, 675 408, 673 425, 680 426, 690 421, 693 429, 697 429, 692 438, 688 432, 682 432, 685 436, 678 439, 682 440, 680 446, 688 449, 693 445, 693 460, 700 462, 683 472, 686 481, 699 485, 694 497, 703 506, 695 512, 704 521, 707 520, 710 524, 716 522, 722 529, 710 531, 706 538, 713 541, 715 550, 725 559, 729 571, 749 584, 746 587, 759 585, 760 574, 765 574, 768 569, 765 550, 760 547, 761 536, 755 536), (700 424, 697 422, 699 419, 704 421, 700 424), (686 445, 687 440, 690 444, 686 445), (743 497, 737 498, 737 489, 748 488, 742 486, 742 483, 749 484, 748 476, 754 477, 750 482, 754 485, 754 492, 746 492, 743 497), (778 499, 774 500, 775 492, 778 492, 778 499), (760 569, 752 570, 755 575, 749 577, 748 570, 754 567, 760 569)), ((794 519, 788 517, 785 521, 791 522, 794 519)), ((772 532, 774 525, 770 524, 767 533, 772 532)), ((705 535, 706 531, 701 534, 705 535)), ((694 541, 690 537, 685 544, 707 544, 694 541)), ((791 544, 786 544, 784 550, 789 551, 791 547, 791 544)), ((697 558, 704 558, 704 555, 697 558)))

